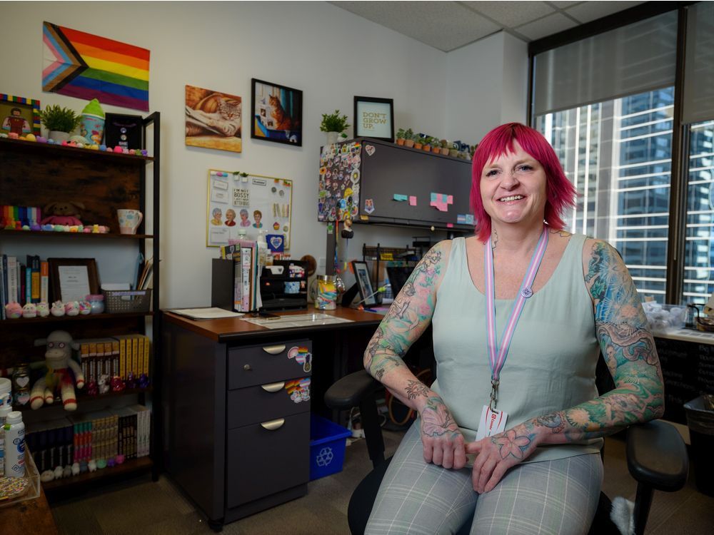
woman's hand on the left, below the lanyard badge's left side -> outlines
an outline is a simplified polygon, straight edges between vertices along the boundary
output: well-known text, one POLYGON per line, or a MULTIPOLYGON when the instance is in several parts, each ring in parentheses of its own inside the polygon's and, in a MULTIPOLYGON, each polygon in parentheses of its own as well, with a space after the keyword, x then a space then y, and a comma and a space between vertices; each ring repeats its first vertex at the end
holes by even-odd
POLYGON ((465 467, 463 435, 443 400, 436 395, 428 397, 419 414, 424 460, 444 468, 465 467))

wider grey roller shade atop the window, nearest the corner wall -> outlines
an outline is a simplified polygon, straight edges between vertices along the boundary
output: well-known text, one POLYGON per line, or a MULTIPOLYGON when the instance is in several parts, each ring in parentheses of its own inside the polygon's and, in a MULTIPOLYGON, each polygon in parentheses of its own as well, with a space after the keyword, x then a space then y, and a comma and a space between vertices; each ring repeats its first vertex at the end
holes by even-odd
POLYGON ((535 56, 533 113, 673 86, 676 61, 677 11, 545 51, 535 56))

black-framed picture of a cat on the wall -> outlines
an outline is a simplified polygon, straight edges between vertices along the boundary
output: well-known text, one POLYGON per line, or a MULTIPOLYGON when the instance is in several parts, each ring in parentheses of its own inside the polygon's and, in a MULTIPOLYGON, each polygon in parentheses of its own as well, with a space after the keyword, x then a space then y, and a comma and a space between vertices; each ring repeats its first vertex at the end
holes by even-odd
POLYGON ((303 146, 303 92, 253 78, 251 138, 303 146))

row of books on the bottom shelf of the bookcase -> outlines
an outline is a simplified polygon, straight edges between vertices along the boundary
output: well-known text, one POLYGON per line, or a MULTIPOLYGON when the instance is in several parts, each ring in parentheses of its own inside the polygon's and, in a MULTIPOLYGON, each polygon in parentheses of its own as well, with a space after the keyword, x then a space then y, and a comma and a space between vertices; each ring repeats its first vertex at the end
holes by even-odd
POLYGON ((40 472, 90 459, 149 455, 151 410, 131 405, 38 422, 28 426, 27 446, 40 472))

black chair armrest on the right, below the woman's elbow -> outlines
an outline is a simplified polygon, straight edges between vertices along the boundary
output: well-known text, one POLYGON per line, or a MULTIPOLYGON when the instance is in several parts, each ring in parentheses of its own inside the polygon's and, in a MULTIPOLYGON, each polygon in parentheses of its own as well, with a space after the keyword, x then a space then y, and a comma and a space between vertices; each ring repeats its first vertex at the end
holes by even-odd
POLYGON ((638 483, 673 492, 687 482, 689 457, 674 426, 653 420, 628 429, 627 464, 638 483))

